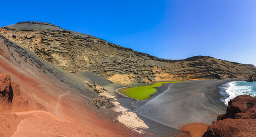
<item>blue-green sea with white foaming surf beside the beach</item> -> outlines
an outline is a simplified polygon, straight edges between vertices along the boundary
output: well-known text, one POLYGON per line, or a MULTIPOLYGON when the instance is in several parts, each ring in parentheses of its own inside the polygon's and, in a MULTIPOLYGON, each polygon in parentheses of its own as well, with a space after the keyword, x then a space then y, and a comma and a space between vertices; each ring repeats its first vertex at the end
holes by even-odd
POLYGON ((250 96, 256 96, 256 82, 247 81, 233 81, 225 83, 220 86, 220 94, 224 96, 220 99, 226 106, 230 99, 233 99, 242 94, 248 94, 250 96))

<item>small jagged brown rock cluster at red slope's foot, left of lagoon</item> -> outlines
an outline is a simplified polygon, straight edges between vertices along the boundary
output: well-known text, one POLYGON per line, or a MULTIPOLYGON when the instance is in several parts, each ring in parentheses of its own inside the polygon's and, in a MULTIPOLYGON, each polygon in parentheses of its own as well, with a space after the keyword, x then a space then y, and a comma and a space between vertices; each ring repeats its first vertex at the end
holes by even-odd
POLYGON ((92 105, 98 108, 111 108, 114 107, 114 104, 111 102, 111 99, 106 96, 99 96, 97 98, 93 98, 92 105))

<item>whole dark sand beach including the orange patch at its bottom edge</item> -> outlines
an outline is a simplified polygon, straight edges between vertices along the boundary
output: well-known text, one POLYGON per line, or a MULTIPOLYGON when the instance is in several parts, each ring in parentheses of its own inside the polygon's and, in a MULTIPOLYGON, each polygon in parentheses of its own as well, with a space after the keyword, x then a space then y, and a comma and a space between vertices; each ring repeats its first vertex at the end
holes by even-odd
POLYGON ((148 125, 148 131, 157 136, 168 136, 190 131, 202 134, 227 106, 219 99, 219 86, 236 80, 199 80, 170 83, 157 87, 149 99, 137 101, 116 94, 118 102, 136 113, 148 125), (194 124, 192 124, 194 123, 194 124), (200 125, 200 126, 198 126, 200 125), (182 128, 183 127, 183 128, 182 128))

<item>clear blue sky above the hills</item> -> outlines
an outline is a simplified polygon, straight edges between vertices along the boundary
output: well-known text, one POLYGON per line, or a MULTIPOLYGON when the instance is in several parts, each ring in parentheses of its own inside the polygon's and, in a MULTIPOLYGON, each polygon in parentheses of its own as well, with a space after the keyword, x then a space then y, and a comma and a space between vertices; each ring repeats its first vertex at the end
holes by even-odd
POLYGON ((2 1, 0 27, 56 24, 165 59, 208 55, 256 66, 256 1, 2 1))

